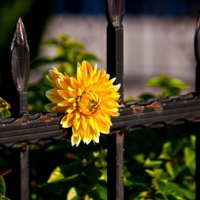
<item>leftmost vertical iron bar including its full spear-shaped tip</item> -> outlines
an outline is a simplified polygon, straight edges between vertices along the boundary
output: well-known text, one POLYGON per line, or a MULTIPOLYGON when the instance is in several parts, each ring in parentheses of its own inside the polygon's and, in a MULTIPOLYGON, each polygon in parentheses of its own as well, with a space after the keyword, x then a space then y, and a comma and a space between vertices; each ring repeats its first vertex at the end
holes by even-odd
MULTIPOLYGON (((19 95, 19 116, 27 121, 28 95, 27 84, 30 72, 30 53, 26 31, 21 18, 19 18, 11 45, 12 77, 19 95)), ((28 145, 20 149, 20 179, 21 200, 29 200, 29 153, 28 145)))

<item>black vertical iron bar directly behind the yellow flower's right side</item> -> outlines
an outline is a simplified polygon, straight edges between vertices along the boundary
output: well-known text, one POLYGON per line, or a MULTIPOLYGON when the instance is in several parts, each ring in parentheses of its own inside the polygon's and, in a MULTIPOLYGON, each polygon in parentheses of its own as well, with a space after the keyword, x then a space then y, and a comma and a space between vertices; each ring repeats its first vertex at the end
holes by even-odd
MULTIPOLYGON (((106 0, 107 25, 107 72, 116 77, 120 87, 120 104, 123 104, 123 25, 124 0, 106 0)), ((108 136, 107 176, 108 199, 124 199, 123 182, 123 145, 124 133, 117 132, 108 136)))

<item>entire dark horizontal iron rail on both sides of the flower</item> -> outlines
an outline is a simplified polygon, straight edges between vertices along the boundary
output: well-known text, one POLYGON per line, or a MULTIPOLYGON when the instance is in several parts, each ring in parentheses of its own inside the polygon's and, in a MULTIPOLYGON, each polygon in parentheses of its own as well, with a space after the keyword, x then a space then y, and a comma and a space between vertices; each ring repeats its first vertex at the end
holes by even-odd
MULTIPOLYGON (((21 147, 20 144, 24 143, 39 144, 40 141, 45 143, 45 140, 48 143, 64 138, 70 129, 61 128, 62 116, 57 113, 40 113, 29 115, 27 121, 24 121, 23 117, 2 119, 0 146, 21 147)), ((200 122, 200 96, 195 93, 165 99, 127 102, 126 106, 120 109, 120 116, 112 119, 111 133, 185 122, 200 122)))

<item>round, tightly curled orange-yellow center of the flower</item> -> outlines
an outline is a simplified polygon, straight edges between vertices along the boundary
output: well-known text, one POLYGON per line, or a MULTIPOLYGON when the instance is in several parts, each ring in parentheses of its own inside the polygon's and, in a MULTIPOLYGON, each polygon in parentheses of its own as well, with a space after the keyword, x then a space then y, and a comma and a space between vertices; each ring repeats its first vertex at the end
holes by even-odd
POLYGON ((85 92, 78 101, 79 111, 86 115, 94 114, 100 108, 101 99, 95 92, 85 92))

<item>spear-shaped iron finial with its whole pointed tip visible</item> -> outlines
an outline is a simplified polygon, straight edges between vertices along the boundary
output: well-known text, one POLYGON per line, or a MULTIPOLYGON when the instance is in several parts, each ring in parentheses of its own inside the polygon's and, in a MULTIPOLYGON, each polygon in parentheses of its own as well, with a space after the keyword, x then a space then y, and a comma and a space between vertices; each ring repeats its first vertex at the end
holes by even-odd
POLYGON ((26 31, 22 19, 17 22, 11 44, 12 76, 18 91, 26 91, 30 71, 30 54, 26 31))

